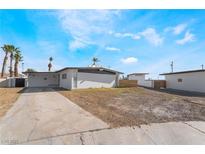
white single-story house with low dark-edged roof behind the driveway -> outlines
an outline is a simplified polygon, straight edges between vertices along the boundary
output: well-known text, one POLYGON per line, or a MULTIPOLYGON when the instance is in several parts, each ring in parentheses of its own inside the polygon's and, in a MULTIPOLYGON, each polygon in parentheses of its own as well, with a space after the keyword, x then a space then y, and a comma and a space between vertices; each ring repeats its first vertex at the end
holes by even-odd
POLYGON ((55 72, 24 72, 27 87, 65 89, 111 88, 119 84, 121 72, 103 67, 66 67, 55 72))

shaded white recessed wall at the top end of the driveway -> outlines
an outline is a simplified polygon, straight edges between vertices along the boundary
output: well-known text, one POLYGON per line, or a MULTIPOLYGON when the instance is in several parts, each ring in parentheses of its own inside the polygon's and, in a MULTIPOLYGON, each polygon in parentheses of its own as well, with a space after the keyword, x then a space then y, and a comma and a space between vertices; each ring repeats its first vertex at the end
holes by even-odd
POLYGON ((56 73, 30 73, 28 87, 57 87, 58 74, 56 73), (45 80, 45 78, 47 80, 45 80))

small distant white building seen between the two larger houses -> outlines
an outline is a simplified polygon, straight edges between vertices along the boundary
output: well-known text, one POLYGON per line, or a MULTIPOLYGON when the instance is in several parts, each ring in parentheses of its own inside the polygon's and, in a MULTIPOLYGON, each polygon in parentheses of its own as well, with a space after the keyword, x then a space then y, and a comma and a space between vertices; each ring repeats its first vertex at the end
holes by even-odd
POLYGON ((152 80, 146 80, 145 76, 149 73, 132 73, 127 75, 128 80, 137 80, 137 84, 143 87, 153 87, 152 80))

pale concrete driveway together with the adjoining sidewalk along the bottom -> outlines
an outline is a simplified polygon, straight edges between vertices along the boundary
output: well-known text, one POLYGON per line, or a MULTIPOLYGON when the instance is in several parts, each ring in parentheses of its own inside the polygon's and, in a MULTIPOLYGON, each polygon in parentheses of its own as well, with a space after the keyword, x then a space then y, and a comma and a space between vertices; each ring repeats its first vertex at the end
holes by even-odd
POLYGON ((0 121, 1 144, 205 144, 205 122, 110 129, 51 89, 28 89, 0 121))

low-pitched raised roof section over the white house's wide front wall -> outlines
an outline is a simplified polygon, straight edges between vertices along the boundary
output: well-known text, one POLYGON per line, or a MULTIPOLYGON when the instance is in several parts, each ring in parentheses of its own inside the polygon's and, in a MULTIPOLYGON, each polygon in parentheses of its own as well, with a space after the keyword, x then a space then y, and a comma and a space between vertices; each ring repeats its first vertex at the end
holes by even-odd
POLYGON ((119 74, 124 74, 122 72, 118 72, 118 71, 115 71, 115 70, 111 70, 111 69, 108 69, 108 68, 104 68, 104 67, 65 67, 63 69, 60 69, 56 72, 61 72, 61 71, 64 71, 64 70, 67 70, 67 69, 78 69, 80 71, 85 71, 85 70, 93 70, 93 71, 107 71, 107 72, 111 72, 111 73, 119 73, 119 74))

